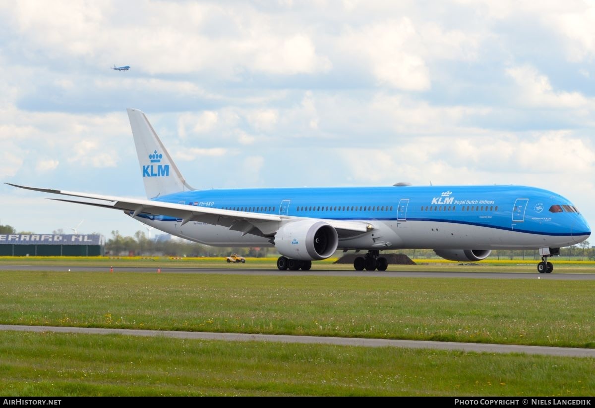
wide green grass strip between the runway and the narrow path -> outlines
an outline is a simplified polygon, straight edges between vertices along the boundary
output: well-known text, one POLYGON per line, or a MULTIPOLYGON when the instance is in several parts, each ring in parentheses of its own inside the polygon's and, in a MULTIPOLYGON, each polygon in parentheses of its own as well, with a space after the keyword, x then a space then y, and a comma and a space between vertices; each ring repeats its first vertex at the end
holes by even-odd
POLYGON ((595 347, 594 281, 2 271, 0 291, 2 324, 595 347))

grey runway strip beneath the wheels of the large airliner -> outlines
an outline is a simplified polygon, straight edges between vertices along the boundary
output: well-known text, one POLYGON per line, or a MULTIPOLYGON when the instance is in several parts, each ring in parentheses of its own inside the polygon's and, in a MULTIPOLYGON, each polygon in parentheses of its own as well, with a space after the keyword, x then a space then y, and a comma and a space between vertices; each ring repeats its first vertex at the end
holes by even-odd
MULTIPOLYGON (((156 273, 155 267, 114 267, 114 273, 137 272, 156 273)), ((68 265, 0 265, 0 271, 55 271, 55 272, 97 272, 109 273, 109 267, 68 266, 68 265)), ((228 275, 265 275, 265 276, 364 276, 364 277, 419 277, 419 278, 470 278, 470 279, 544 279, 544 280, 595 280, 595 273, 525 273, 525 272, 461 272, 461 271, 280 271, 277 269, 232 268, 160 268, 161 273, 204 273, 228 275)))

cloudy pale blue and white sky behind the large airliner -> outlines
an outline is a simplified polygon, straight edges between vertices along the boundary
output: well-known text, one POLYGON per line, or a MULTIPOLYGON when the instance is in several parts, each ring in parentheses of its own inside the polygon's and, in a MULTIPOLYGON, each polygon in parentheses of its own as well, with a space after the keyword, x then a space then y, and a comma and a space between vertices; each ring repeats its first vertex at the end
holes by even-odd
POLYGON ((17 231, 148 233, 4 184, 145 198, 127 107, 195 188, 529 185, 595 227, 593 1, 20 0, 0 25, 17 231))

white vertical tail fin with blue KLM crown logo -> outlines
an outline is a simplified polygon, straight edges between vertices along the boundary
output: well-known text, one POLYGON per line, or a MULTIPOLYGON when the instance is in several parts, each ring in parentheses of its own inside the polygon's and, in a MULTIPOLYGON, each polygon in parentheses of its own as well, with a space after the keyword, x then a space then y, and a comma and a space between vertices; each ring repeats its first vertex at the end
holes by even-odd
POLYGON ((130 118, 147 198, 193 190, 194 188, 186 183, 170 154, 165 150, 145 113, 130 107, 126 110, 130 118))

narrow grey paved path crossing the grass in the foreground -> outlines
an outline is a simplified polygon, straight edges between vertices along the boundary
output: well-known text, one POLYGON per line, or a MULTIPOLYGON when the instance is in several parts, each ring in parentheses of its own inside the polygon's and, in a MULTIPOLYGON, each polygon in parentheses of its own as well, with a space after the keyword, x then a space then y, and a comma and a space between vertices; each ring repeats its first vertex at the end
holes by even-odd
POLYGON ((590 357, 595 349, 571 347, 517 346, 513 344, 454 343, 448 341, 417 341, 389 339, 361 339, 353 337, 286 336, 281 334, 212 333, 196 331, 130 330, 119 328, 87 328, 57 326, 0 325, 0 330, 32 331, 36 333, 121 334, 124 336, 171 337, 175 339, 224 341, 273 341, 279 343, 333 344, 336 346, 406 347, 410 349, 462 350, 477 353, 522 353, 530 355, 590 357))

